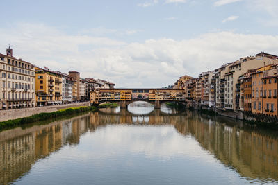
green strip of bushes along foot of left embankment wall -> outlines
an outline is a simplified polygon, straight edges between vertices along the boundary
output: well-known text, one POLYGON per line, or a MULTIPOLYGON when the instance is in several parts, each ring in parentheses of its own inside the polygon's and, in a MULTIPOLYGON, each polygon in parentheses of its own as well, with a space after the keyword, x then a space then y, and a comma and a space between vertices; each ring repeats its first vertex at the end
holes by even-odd
POLYGON ((76 108, 67 108, 60 109, 56 112, 42 112, 40 114, 34 114, 33 116, 29 116, 26 118, 17 118, 14 120, 2 121, 0 122, 0 130, 5 127, 13 127, 17 125, 24 125, 26 123, 34 123, 36 121, 45 121, 51 118, 58 118, 61 116, 69 116, 72 114, 77 114, 81 112, 95 111, 97 107, 76 107, 76 108))

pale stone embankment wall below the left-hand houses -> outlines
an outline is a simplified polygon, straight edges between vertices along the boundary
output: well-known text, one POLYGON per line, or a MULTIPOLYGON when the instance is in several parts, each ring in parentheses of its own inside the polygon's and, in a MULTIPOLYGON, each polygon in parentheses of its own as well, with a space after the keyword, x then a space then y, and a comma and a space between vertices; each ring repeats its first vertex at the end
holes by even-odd
POLYGON ((65 105, 51 105, 44 107, 30 107, 24 109, 6 109, 0 110, 0 122, 8 121, 10 119, 25 118, 32 116, 33 114, 39 114, 42 112, 56 112, 60 109, 67 109, 70 107, 81 107, 81 106, 90 106, 90 102, 82 103, 70 103, 65 105))

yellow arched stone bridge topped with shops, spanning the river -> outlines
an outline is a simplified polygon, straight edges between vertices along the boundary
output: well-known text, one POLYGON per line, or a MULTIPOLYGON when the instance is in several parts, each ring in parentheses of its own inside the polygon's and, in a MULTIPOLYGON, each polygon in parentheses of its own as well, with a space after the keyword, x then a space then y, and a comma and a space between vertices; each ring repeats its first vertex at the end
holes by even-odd
POLYGON ((97 89, 90 94, 92 105, 104 102, 119 103, 122 108, 135 101, 146 101, 160 108, 161 103, 176 102, 185 105, 184 89, 97 89))

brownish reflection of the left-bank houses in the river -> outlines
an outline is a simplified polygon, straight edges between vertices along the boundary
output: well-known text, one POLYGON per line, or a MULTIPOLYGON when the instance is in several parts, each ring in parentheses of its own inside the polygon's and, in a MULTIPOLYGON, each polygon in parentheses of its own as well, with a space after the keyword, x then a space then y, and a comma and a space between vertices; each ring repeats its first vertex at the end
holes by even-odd
POLYGON ((0 184, 15 182, 31 170, 38 159, 61 148, 65 143, 78 143, 89 128, 88 115, 67 121, 15 128, 0 132, 0 184))

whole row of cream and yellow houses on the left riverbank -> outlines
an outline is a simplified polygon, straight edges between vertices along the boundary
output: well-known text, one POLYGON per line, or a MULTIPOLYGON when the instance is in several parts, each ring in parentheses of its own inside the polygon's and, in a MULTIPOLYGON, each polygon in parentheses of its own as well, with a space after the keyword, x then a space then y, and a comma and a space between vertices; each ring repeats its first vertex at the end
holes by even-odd
POLYGON ((95 78, 81 78, 78 71, 61 73, 36 67, 13 56, 8 47, 0 54, 0 109, 56 105, 89 100, 96 88, 113 88, 115 84, 95 78))

